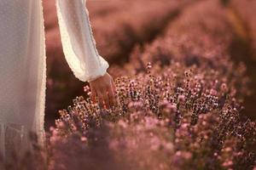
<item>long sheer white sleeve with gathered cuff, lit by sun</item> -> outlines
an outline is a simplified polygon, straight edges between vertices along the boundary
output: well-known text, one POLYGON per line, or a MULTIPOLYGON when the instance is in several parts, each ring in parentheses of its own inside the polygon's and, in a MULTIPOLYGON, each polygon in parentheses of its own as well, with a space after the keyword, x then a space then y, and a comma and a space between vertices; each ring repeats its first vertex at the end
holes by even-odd
POLYGON ((109 65, 97 52, 85 0, 56 0, 61 42, 75 77, 90 82, 103 76, 109 65))

